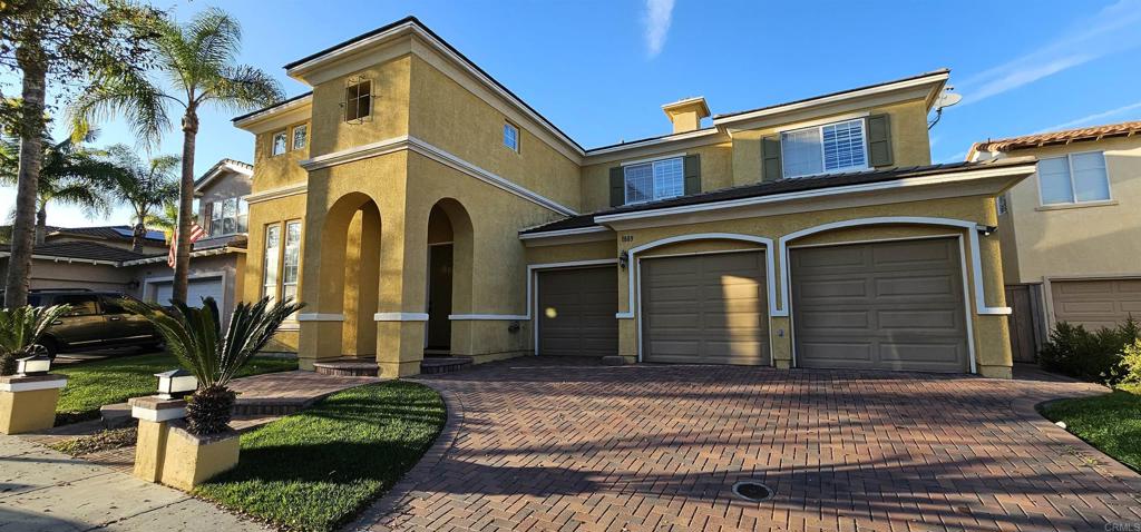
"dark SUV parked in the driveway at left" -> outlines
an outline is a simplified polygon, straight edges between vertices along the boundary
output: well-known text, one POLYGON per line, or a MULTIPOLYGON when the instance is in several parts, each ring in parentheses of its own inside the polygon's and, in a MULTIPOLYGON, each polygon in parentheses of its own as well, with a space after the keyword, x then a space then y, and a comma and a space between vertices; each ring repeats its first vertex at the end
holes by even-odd
POLYGON ((40 344, 52 358, 56 353, 127 345, 156 350, 162 338, 154 326, 123 309, 119 303, 123 298, 131 296, 119 292, 52 288, 32 290, 27 294, 27 304, 51 306, 66 303, 72 306, 71 312, 54 321, 40 337, 40 344))

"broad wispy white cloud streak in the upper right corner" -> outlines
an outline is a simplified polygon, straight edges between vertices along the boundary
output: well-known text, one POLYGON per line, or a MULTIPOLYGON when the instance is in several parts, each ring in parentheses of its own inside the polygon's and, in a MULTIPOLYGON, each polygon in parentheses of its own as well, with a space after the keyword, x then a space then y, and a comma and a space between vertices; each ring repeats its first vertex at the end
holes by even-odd
POLYGON ((1141 46, 1141 0, 1119 0, 1079 21, 1035 51, 976 74, 958 85, 963 104, 1034 83, 1107 55, 1141 46))

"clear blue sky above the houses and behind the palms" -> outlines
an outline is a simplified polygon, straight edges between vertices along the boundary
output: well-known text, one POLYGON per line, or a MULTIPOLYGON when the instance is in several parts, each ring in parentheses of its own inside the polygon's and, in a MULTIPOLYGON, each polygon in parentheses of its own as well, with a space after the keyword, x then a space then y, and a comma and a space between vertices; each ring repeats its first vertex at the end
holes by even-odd
MULTIPOLYGON (((1141 118, 1141 0, 156 3, 180 19, 227 9, 244 30, 241 62, 277 76, 290 96, 307 88, 285 76, 285 63, 415 15, 585 147, 669 132, 661 105, 683 97, 729 113, 940 67, 963 101, 931 131, 934 162, 960 161, 988 137, 1141 118)), ((252 159, 252 136, 230 115, 202 114, 196 172, 221 157, 252 159)), ((102 129, 99 145, 135 144, 120 123, 102 129)), ((159 152, 179 150, 171 131, 159 152)), ((14 196, 0 189, 0 212, 14 196)), ((128 215, 89 220, 54 206, 48 221, 128 215)))

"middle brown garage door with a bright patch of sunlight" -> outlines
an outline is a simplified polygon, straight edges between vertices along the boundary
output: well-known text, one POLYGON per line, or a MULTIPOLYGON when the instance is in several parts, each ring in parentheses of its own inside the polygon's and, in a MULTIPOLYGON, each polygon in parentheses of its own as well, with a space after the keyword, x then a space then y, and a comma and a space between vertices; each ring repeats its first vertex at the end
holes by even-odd
POLYGON ((762 252, 641 262, 642 359, 768 365, 762 252))

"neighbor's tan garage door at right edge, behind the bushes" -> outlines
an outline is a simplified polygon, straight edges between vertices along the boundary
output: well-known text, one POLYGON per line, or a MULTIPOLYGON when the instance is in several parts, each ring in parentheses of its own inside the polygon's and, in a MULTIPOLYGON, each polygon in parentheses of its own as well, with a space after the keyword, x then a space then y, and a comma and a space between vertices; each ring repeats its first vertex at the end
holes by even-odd
POLYGON ((1098 329, 1141 320, 1141 279, 1058 280, 1050 292, 1058 321, 1098 329))

